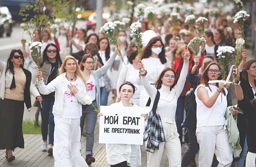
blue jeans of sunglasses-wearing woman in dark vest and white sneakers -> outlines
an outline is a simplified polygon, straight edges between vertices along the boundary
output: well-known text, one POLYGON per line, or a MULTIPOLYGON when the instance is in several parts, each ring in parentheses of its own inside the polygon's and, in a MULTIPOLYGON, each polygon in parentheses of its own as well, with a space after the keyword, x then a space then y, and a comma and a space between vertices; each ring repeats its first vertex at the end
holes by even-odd
POLYGON ((54 97, 47 98, 44 97, 42 101, 42 107, 40 103, 38 102, 38 106, 40 109, 41 113, 41 119, 42 119, 42 124, 41 124, 41 131, 42 131, 42 137, 43 141, 47 140, 47 134, 48 134, 48 124, 49 124, 49 144, 53 145, 53 133, 54 133, 54 116, 52 114, 52 108, 54 104, 54 97))

